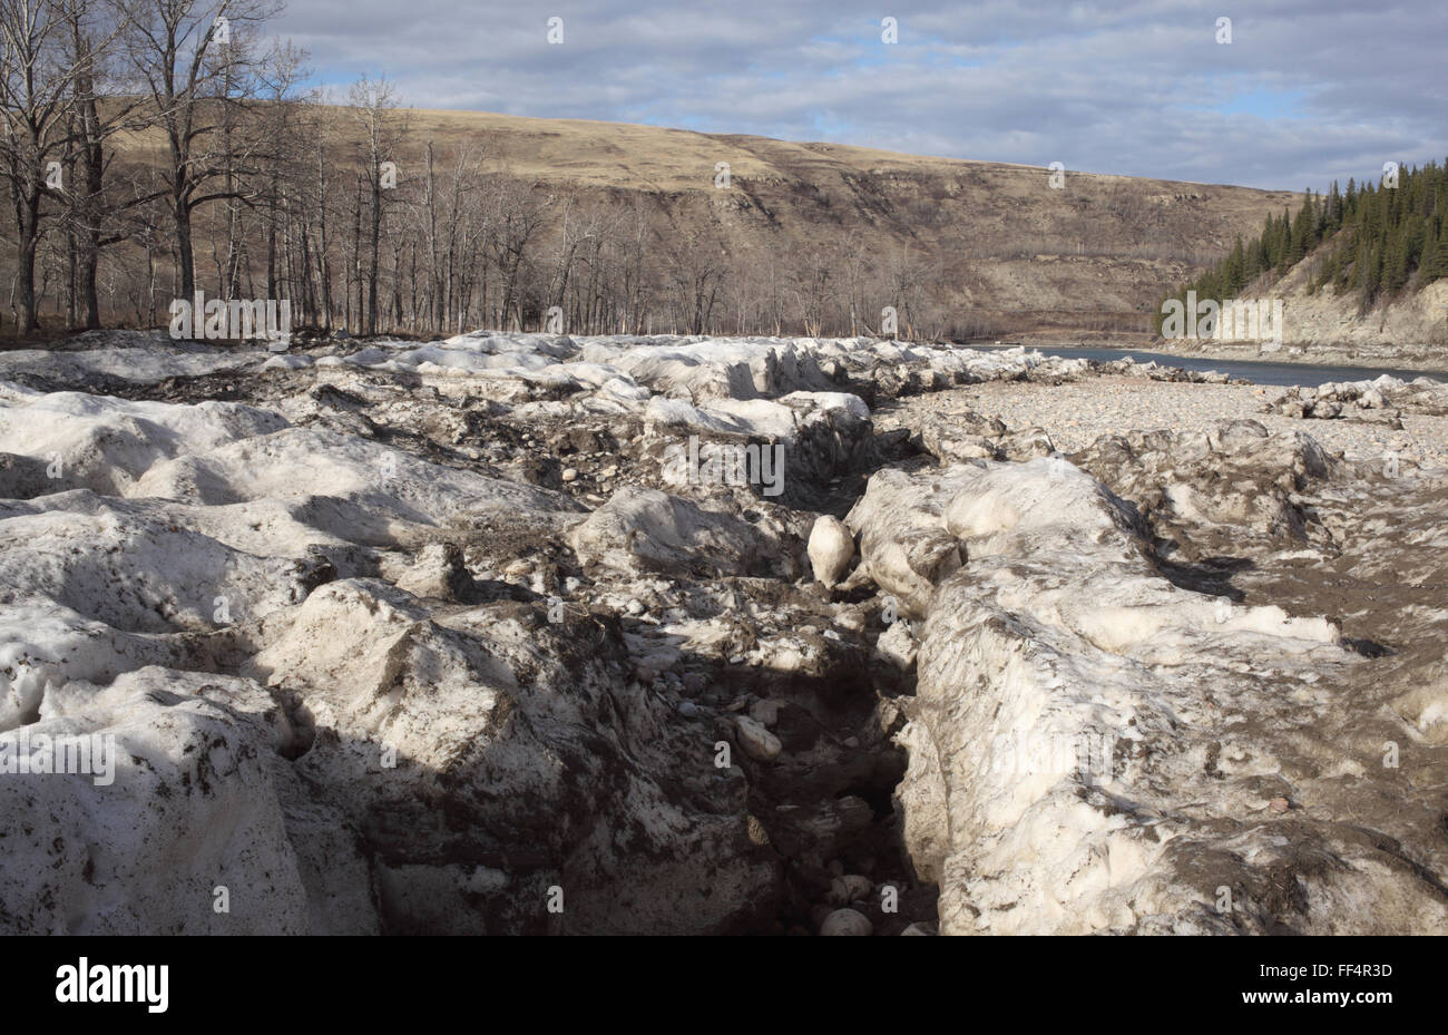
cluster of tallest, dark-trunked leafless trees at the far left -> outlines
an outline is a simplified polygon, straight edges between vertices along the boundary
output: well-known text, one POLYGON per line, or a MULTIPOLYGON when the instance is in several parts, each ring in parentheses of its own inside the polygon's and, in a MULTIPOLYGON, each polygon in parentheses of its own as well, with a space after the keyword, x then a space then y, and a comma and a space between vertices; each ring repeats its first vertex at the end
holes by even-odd
POLYGON ((177 292, 195 290, 198 213, 224 204, 235 220, 274 156, 259 132, 272 113, 255 101, 268 84, 290 90, 297 65, 288 48, 256 49, 274 13, 266 0, 0 0, 0 178, 22 333, 39 324, 38 276, 64 294, 68 324, 100 326, 98 268, 123 242, 152 261, 165 246, 177 292))

